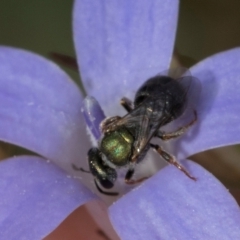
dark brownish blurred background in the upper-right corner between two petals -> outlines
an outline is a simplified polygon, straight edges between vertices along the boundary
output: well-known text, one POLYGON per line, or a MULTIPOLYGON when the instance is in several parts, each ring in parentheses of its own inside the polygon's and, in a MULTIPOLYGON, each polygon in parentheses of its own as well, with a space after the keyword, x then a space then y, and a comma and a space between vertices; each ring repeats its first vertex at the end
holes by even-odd
POLYGON ((239 0, 181 0, 176 48, 201 60, 240 45, 239 0))

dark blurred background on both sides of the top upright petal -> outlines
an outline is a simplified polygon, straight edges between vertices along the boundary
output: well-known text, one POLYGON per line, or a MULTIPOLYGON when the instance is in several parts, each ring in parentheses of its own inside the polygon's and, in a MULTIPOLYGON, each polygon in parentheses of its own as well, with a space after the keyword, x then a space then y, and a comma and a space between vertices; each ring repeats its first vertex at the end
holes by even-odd
MULTIPOLYGON (((0 44, 74 56, 72 6, 72 0, 1 0, 0 44)), ((180 1, 178 53, 199 61, 239 44, 239 0, 180 1)))

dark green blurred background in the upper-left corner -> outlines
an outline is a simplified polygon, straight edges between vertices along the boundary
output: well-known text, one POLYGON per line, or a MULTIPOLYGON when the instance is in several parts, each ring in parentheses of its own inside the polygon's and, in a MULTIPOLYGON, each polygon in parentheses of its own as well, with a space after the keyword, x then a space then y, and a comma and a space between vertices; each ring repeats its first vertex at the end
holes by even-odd
MULTIPOLYGON (((1 0, 0 44, 24 48, 49 58, 51 52, 75 56, 72 0, 1 0)), ((79 75, 62 67, 76 81, 79 75)))

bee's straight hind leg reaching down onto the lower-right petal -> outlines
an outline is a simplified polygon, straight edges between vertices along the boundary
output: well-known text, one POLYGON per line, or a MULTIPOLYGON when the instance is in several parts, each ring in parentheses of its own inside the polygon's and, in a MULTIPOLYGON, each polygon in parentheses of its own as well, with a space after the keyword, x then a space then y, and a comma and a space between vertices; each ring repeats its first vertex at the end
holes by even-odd
POLYGON ((152 144, 150 143, 150 146, 155 149, 160 155, 161 157, 167 161, 168 163, 174 165, 175 167, 177 167, 180 171, 182 171, 183 173, 185 173, 186 176, 188 176, 189 178, 191 178, 192 180, 196 181, 197 179, 195 177, 192 177, 190 175, 190 173, 180 164, 178 163, 173 156, 171 156, 169 153, 167 153, 166 151, 162 150, 162 148, 156 144, 152 144))

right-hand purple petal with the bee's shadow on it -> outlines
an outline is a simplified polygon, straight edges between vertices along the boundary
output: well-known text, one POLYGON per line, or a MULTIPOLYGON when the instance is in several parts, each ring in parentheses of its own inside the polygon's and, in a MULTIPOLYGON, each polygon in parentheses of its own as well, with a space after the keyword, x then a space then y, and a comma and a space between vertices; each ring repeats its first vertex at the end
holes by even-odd
POLYGON ((240 143, 240 48, 203 60, 191 73, 202 83, 198 122, 177 140, 178 158, 240 143))

